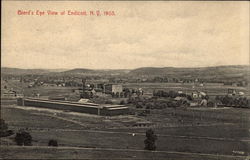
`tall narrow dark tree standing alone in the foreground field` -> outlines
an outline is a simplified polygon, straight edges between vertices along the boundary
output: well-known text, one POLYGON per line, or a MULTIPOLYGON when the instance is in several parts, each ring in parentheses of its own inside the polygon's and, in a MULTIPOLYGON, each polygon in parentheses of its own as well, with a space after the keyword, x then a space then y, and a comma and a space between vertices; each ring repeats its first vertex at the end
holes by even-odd
POLYGON ((157 136, 154 134, 152 129, 148 129, 146 131, 146 139, 144 140, 146 150, 155 150, 155 141, 157 140, 157 136))

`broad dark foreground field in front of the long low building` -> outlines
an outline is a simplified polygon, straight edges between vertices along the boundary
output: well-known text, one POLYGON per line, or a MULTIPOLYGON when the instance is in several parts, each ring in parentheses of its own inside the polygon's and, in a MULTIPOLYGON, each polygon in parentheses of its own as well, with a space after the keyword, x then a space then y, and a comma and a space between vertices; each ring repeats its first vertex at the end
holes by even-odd
POLYGON ((94 159, 226 160, 245 159, 250 154, 250 111, 247 109, 152 110, 147 117, 103 117, 16 105, 2 105, 1 111, 9 129, 27 128, 34 140, 34 147, 15 147, 13 136, 2 138, 1 157, 5 158, 64 155, 65 158, 94 159), (147 127, 128 125, 138 121, 154 124, 151 127, 158 136, 156 152, 143 150, 147 127), (46 147, 50 139, 58 141, 58 149, 46 147))

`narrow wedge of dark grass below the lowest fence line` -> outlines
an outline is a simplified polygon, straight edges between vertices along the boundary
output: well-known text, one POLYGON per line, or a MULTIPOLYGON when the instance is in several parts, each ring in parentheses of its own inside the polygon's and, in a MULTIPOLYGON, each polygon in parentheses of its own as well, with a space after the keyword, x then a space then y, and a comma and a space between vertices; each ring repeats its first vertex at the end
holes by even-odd
POLYGON ((248 160, 246 156, 211 155, 171 151, 100 149, 78 147, 1 147, 3 158, 11 159, 169 159, 169 160, 248 160), (15 150, 11 154, 10 150, 15 150), (53 152, 53 154, 51 154, 53 152), (111 154, 112 153, 112 154, 111 154), (114 158, 115 157, 115 158, 114 158))

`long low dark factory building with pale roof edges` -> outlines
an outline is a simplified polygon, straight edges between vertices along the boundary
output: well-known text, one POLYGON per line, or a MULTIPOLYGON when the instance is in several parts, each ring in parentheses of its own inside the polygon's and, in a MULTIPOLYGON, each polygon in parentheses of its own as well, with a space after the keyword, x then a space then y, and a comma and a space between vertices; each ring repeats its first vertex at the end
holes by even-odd
POLYGON ((129 108, 124 105, 101 105, 95 103, 77 103, 70 101, 37 98, 18 98, 17 105, 67 110, 72 112, 81 112, 104 116, 122 115, 129 113, 129 108))

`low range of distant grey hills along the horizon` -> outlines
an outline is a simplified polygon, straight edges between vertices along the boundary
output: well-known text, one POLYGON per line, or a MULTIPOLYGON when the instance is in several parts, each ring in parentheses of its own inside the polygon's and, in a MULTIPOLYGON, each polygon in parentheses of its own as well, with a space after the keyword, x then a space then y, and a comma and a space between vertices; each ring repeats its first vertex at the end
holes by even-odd
POLYGON ((250 79, 249 65, 217 66, 217 67, 197 67, 197 68, 175 68, 175 67, 143 67, 134 70, 127 69, 85 69, 76 68, 66 69, 19 69, 19 68, 1 68, 2 74, 49 74, 49 75, 121 75, 125 77, 138 76, 167 76, 175 78, 204 78, 204 79, 227 79, 227 78, 247 78, 250 79))

